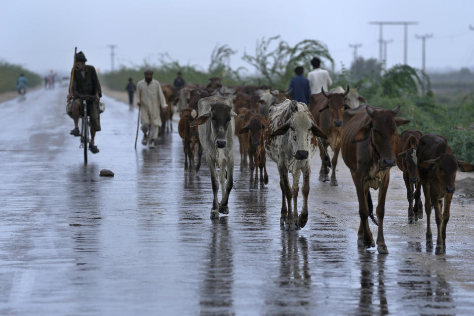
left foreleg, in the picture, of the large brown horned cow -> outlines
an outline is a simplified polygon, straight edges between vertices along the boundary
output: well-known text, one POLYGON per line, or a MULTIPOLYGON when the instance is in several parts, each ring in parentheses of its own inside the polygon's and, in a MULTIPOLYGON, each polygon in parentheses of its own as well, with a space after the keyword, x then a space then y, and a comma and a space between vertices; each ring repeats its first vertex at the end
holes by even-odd
MULTIPOLYGON (((352 172, 351 172, 352 173, 352 172)), ((374 247, 374 238, 369 228, 369 209, 367 205, 367 196, 369 194, 369 187, 364 186, 362 182, 362 174, 358 172, 353 174, 354 184, 356 185, 357 199, 359 201, 359 216, 360 224, 357 232, 357 247, 359 248, 370 248, 374 247)))

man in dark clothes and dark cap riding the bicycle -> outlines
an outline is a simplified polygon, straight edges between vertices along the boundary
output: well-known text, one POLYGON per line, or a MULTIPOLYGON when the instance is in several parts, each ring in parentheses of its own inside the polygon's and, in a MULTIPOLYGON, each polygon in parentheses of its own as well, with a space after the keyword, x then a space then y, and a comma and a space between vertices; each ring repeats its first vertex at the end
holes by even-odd
POLYGON ((74 98, 72 115, 74 129, 71 135, 80 136, 79 115, 84 113, 83 101, 87 105, 87 115, 90 118, 90 142, 89 149, 92 154, 97 154, 99 149, 94 144, 95 132, 100 130, 99 101, 102 97, 99 79, 94 66, 85 65, 87 59, 83 52, 76 55, 76 65, 73 78, 72 95, 74 98))

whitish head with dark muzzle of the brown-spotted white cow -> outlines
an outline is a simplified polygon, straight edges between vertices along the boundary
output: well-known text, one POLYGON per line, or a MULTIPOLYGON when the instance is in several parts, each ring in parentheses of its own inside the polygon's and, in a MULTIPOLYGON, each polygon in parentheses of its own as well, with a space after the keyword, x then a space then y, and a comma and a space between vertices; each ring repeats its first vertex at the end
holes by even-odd
POLYGON ((278 127, 272 136, 284 135, 288 137, 289 150, 293 157, 302 160, 309 157, 311 139, 314 136, 326 138, 324 132, 313 122, 310 115, 304 111, 293 113, 290 119, 278 127))

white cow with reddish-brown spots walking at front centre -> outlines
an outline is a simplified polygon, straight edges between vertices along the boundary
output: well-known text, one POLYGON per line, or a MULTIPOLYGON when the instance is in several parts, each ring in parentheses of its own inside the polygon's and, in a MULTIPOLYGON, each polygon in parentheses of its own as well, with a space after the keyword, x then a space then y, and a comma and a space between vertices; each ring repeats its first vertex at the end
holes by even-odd
POLYGON ((290 100, 285 100, 270 108, 264 134, 265 150, 267 155, 276 162, 280 175, 283 196, 280 225, 284 225, 285 230, 303 228, 308 221, 311 157, 318 147, 317 137, 326 138, 326 135, 316 125, 306 104, 290 100), (291 190, 288 172, 293 175, 291 190), (301 172, 303 172, 303 208, 298 217, 297 198, 301 172), (292 198, 293 212, 291 211, 292 198))

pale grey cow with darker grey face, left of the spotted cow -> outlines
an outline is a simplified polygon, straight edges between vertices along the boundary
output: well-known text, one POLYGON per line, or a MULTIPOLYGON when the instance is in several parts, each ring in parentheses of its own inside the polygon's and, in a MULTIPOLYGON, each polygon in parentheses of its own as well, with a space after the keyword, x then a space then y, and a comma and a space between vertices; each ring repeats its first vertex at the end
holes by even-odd
POLYGON ((199 125, 199 140, 206 151, 206 161, 211 174, 212 201, 211 219, 219 218, 219 213, 229 214, 229 194, 234 185, 234 129, 235 114, 232 111, 233 102, 231 97, 210 96, 201 98, 197 103, 198 117, 191 126, 199 125), (217 192, 219 182, 217 180, 217 168, 220 168, 219 182, 222 188, 222 198, 219 203, 217 192), (227 179, 227 183, 226 183, 227 179))

